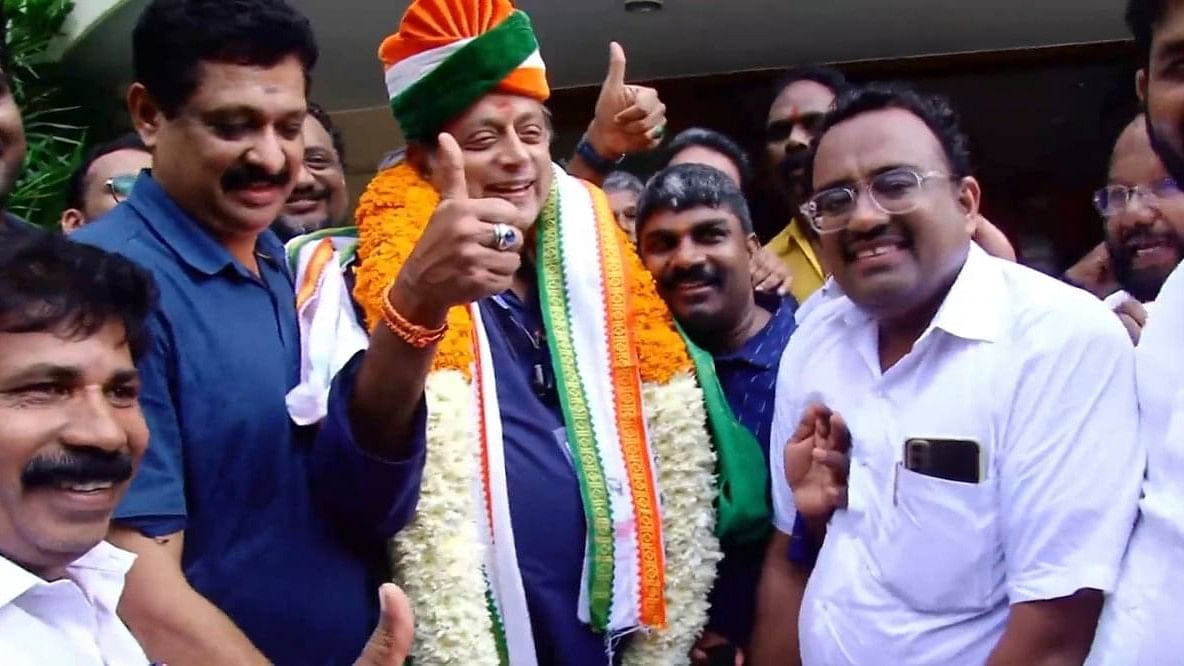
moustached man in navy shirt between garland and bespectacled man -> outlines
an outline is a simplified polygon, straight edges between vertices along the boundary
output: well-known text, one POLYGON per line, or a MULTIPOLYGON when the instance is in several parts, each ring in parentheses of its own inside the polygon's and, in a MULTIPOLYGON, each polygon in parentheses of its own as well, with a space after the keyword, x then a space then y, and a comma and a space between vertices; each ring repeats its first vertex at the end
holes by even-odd
MULTIPOLYGON (((683 331, 712 354, 723 395, 767 466, 773 388, 794 302, 755 294, 749 261, 759 249, 744 194, 710 166, 658 172, 638 203, 637 251, 683 331)), ((723 544, 699 659, 720 645, 747 646, 766 544, 723 544)))

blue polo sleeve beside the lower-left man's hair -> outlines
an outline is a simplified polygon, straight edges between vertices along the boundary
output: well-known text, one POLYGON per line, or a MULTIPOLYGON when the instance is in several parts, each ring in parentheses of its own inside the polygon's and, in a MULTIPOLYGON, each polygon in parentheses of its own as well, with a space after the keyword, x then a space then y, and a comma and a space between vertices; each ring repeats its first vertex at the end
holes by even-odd
POLYGON ((160 312, 148 319, 152 344, 136 363, 140 371, 140 408, 148 423, 148 450, 114 520, 147 537, 185 529, 185 459, 176 418, 175 358, 168 321, 160 312))

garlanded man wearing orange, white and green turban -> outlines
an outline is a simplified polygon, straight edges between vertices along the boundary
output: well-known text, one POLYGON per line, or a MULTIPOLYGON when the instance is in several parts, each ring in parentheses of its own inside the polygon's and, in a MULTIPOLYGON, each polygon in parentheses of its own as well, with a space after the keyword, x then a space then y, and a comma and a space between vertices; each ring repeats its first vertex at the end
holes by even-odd
MULTIPOLYGON (((369 390, 352 409, 367 436, 426 442, 417 517, 392 544, 417 666, 686 662, 719 538, 767 531, 759 452, 746 468, 708 418, 710 364, 604 193, 552 162, 528 17, 416 0, 379 55, 408 146, 358 206, 369 390)), ((661 139, 664 107, 624 65, 613 44, 571 169, 592 180, 661 139)), ((313 296, 332 243, 296 254, 316 367, 348 357, 348 321, 316 312, 348 297, 313 296)))

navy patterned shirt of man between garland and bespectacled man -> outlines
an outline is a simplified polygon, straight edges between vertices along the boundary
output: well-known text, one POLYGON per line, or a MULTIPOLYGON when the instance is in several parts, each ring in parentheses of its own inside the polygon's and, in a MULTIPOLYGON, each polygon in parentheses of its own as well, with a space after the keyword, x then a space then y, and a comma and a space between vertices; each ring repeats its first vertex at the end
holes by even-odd
MULTIPOLYGON (((767 467, 777 370, 797 327, 793 319, 797 307, 793 299, 762 294, 757 295, 757 305, 772 314, 768 324, 735 352, 715 354, 715 373, 736 420, 757 436, 767 467)), ((708 627, 739 647, 747 646, 752 634, 766 545, 765 542, 723 544, 708 627)))

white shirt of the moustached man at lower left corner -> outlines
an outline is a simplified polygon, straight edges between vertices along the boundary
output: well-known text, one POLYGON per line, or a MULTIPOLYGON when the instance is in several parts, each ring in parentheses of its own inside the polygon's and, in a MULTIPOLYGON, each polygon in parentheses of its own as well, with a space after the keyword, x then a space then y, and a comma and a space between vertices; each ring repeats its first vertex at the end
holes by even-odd
POLYGON ((0 664, 147 666, 115 614, 134 559, 102 542, 50 583, 0 557, 0 664))

